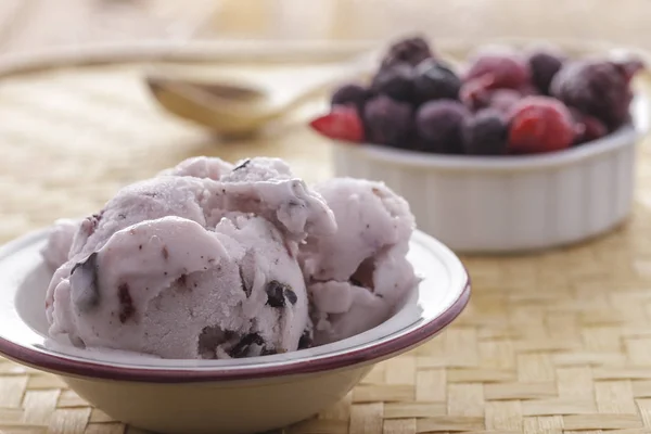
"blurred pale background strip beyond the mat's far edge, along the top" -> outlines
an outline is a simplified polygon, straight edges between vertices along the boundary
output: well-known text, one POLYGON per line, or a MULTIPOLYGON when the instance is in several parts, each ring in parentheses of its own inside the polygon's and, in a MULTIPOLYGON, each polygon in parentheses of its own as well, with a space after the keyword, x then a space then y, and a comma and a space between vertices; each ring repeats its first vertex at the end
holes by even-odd
POLYGON ((649 0, 2 0, 0 52, 132 40, 557 37, 651 44, 649 0))

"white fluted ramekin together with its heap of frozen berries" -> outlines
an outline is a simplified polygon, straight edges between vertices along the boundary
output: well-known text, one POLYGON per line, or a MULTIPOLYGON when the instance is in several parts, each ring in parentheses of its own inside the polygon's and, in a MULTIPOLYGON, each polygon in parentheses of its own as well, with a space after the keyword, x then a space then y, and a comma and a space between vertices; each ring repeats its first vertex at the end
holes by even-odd
POLYGON ((310 122, 339 177, 382 180, 457 252, 567 245, 629 215, 640 58, 587 44, 392 43, 310 122))

